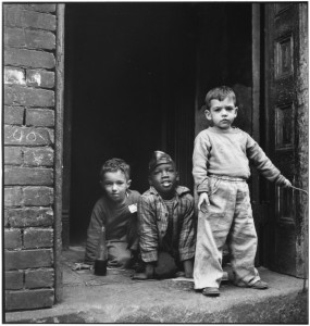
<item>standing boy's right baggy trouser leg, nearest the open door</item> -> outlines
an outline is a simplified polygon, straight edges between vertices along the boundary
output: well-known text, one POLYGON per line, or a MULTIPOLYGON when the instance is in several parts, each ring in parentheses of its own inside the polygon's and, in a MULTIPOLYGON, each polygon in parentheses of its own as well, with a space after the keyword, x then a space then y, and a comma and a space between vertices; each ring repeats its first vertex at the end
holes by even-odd
POLYGON ((246 183, 238 183, 236 211, 227 242, 231 250, 231 263, 235 274, 235 285, 252 286, 260 280, 260 277, 255 267, 257 233, 252 217, 249 188, 246 183))

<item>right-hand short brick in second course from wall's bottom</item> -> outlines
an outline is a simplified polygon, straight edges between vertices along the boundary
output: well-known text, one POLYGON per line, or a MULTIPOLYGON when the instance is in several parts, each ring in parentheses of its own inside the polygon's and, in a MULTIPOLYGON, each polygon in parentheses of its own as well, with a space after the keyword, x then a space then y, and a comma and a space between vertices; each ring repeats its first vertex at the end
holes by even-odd
POLYGON ((25 287, 28 289, 49 288, 53 286, 53 269, 35 269, 25 272, 25 287))

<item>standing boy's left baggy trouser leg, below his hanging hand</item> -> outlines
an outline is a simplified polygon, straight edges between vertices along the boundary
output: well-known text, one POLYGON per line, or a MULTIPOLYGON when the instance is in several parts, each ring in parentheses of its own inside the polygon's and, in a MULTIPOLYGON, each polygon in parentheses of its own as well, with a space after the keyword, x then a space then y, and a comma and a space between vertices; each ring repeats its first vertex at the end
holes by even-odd
MULTIPOLYGON (((222 250, 234 215, 235 187, 218 180, 216 191, 209 197, 208 212, 198 214, 194 264, 195 289, 219 288, 223 276, 222 250)), ((212 189, 211 189, 212 190, 212 189)))

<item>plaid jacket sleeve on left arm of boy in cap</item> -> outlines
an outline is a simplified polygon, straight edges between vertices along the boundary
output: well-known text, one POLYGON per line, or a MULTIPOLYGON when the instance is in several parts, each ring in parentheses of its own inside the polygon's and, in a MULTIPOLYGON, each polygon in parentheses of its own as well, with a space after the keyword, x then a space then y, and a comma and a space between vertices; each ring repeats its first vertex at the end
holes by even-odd
POLYGON ((146 263, 158 261, 158 228, 151 197, 138 200, 139 246, 141 259, 146 263))

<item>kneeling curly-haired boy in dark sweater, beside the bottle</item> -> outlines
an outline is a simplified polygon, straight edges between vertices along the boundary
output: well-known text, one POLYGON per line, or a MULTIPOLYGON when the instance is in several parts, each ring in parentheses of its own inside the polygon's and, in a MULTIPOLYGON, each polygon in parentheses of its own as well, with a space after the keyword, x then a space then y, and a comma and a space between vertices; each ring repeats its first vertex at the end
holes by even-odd
POLYGON ((100 230, 106 227, 108 266, 129 267, 137 251, 137 202, 139 192, 129 190, 131 167, 121 159, 107 161, 100 171, 103 196, 94 206, 87 231, 85 263, 96 260, 100 230))

